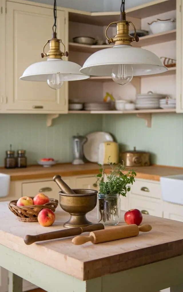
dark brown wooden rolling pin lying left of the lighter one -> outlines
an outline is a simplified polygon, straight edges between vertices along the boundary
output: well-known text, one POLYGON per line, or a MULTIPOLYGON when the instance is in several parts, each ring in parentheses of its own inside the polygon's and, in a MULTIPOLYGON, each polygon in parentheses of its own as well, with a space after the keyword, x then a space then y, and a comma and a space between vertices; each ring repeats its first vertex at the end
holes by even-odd
POLYGON ((91 232, 91 231, 102 230, 102 229, 104 229, 104 225, 102 223, 98 223, 98 224, 89 225, 86 227, 74 227, 70 229, 57 230, 57 231, 52 231, 52 232, 47 232, 47 233, 42 233, 42 234, 37 234, 37 235, 26 235, 24 237, 24 242, 25 244, 30 245, 36 241, 75 236, 83 232, 91 232))

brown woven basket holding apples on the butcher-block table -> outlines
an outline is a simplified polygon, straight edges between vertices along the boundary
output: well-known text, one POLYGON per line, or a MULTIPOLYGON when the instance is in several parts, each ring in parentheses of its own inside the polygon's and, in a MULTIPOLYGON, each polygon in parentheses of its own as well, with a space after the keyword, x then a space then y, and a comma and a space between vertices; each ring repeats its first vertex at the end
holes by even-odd
MULTIPOLYGON (((31 197, 33 199, 33 197, 31 197)), ((19 221, 22 222, 36 222, 37 216, 42 209, 48 208, 53 212, 58 206, 59 201, 56 199, 49 199, 50 202, 44 205, 30 205, 30 206, 17 206, 18 200, 10 201, 8 207, 13 212, 19 221)))

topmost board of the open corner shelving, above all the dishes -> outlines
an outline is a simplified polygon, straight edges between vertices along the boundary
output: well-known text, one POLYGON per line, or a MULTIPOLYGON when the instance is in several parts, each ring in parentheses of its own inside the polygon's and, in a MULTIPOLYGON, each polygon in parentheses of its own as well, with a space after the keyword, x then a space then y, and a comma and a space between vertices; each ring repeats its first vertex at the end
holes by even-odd
MULTIPOLYGON (((119 7, 120 8, 120 7, 119 7)), ((155 0, 130 9, 126 9, 126 16, 146 18, 176 9, 176 0, 155 0)), ((68 9, 69 21, 88 23, 93 25, 108 25, 119 20, 119 11, 115 12, 84 12, 68 9)))

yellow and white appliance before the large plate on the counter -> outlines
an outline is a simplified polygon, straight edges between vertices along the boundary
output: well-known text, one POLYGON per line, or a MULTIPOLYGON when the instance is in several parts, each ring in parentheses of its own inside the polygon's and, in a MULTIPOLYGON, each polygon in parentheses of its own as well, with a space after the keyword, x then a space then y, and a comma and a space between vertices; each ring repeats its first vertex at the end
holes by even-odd
POLYGON ((116 142, 100 143, 98 152, 98 163, 102 165, 108 164, 108 160, 112 163, 119 163, 118 143, 116 142))

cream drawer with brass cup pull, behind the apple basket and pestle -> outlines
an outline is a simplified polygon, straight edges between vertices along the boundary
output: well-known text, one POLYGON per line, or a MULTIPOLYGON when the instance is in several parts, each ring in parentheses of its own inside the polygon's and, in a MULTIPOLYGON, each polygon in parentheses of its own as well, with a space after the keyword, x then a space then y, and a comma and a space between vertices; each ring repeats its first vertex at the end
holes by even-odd
MULTIPOLYGON (((64 179, 66 184, 70 185, 70 179, 64 179)), ((49 198, 59 200, 59 187, 53 180, 43 180, 39 182, 28 182, 22 184, 22 196, 34 197, 38 193, 43 193, 49 198)))

